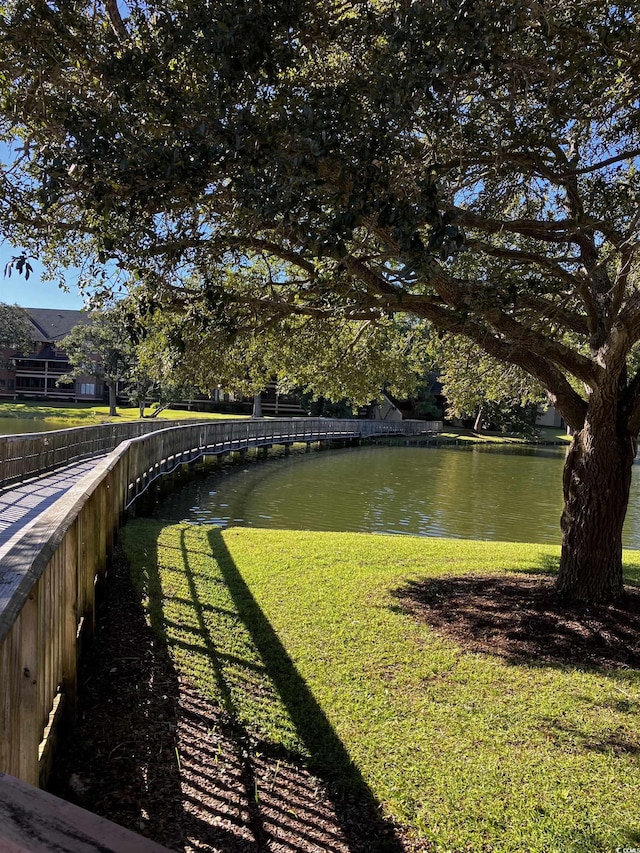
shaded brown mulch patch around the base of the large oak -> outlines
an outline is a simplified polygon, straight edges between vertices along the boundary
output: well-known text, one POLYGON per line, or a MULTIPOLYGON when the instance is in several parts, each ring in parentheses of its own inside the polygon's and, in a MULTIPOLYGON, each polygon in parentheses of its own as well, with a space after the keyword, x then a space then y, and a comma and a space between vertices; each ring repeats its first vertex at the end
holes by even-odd
POLYGON ((640 589, 612 605, 566 605, 541 575, 412 582, 401 606, 472 652, 518 661, 640 667, 640 589))

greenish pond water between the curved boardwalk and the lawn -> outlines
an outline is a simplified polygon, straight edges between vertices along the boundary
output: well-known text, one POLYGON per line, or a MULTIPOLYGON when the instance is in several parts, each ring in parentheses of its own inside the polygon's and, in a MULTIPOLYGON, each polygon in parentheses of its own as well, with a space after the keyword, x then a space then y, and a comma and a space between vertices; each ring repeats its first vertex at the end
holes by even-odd
MULTIPOLYGON (((477 445, 292 455, 193 481, 154 514, 225 527, 559 543, 564 456, 564 448, 477 445)), ((640 548, 637 477, 624 544, 640 548)))

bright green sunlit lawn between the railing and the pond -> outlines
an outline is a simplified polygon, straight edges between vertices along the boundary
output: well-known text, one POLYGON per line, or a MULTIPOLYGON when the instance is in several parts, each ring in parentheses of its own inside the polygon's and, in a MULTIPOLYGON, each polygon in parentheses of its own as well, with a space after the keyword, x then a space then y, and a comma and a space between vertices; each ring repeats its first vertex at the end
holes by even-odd
POLYGON ((368 788, 422 849, 640 846, 640 672, 465 652, 394 595, 548 570, 556 548, 142 519, 123 539, 178 672, 262 741, 368 788))

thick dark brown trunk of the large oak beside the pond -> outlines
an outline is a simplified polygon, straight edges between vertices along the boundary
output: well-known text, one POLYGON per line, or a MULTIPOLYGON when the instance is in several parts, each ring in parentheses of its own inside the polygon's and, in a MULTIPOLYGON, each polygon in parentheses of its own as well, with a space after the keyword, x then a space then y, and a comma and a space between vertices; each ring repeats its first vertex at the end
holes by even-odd
POLYGON ((635 436, 618 434, 614 424, 594 429, 587 421, 574 435, 563 474, 562 556, 556 583, 565 599, 606 603, 624 593, 622 525, 636 447, 635 436))

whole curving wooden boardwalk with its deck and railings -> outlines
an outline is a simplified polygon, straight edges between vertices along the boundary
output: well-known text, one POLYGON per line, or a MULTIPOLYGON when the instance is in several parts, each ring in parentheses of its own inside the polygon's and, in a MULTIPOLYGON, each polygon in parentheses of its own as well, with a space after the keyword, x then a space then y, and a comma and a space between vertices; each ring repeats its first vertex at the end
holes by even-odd
MULTIPOLYGON (((96 589, 113 537, 137 497, 203 456, 441 428, 309 418, 135 423, 0 437, 0 800, 16 797, 25 810, 17 835, 0 814, 0 850, 18 849, 18 840, 24 850, 61 849, 35 820, 46 803, 22 783, 46 781, 60 724, 73 725, 78 655, 93 634, 96 589), (34 828, 45 839, 39 846, 34 828)), ((87 832, 98 846, 83 850, 134 849, 131 839, 116 843, 108 829, 92 826, 87 832)), ((141 851, 152 849, 140 844, 141 851)))

